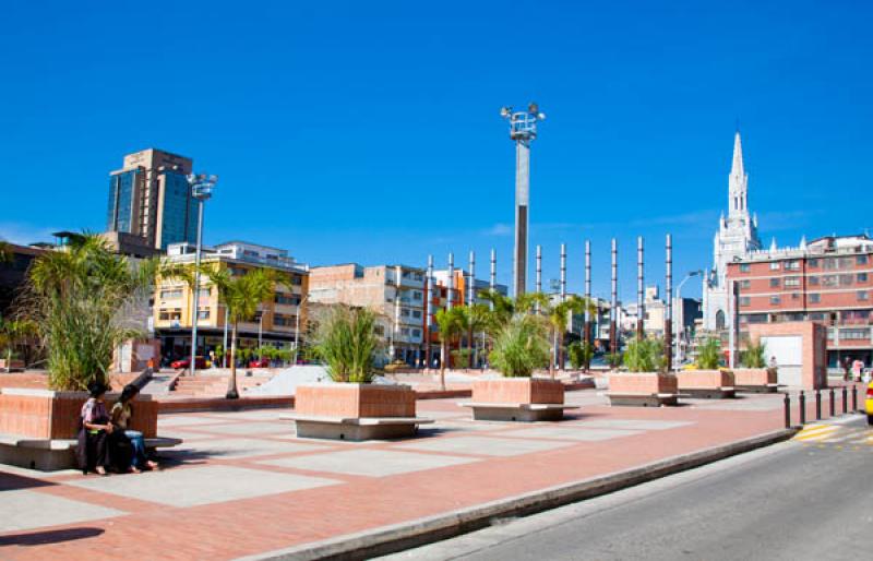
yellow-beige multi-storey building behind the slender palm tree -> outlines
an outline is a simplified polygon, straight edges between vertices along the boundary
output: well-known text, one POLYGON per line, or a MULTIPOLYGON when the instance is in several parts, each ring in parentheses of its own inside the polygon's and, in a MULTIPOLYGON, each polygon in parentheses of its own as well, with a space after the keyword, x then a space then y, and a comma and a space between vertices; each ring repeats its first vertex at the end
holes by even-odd
MULTIPOLYGON (((167 259, 174 263, 194 263, 194 247, 190 243, 171 244, 167 259)), ((286 250, 242 241, 229 241, 214 248, 204 248, 201 262, 206 266, 230 270, 234 275, 244 275, 255 268, 272 268, 287 276, 287 283, 276 284, 272 301, 261 305, 256 321, 240 323, 240 347, 263 345, 290 349, 294 347, 299 325, 300 337, 306 332, 306 299, 309 290, 309 267, 297 263, 286 250), (299 317, 299 322, 298 322, 299 317)), ((184 358, 191 354, 193 293, 181 279, 159 279, 155 291, 154 329, 162 342, 163 359, 184 358)), ((198 355, 208 356, 217 346, 229 348, 230 326, 225 329, 225 306, 218 301, 218 290, 207 276, 201 276, 198 302, 198 355)))

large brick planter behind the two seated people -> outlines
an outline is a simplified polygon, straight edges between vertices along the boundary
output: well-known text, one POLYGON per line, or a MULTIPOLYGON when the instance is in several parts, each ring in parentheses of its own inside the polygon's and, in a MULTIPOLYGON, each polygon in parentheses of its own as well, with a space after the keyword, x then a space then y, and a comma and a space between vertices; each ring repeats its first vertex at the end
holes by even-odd
MULTIPOLYGON (((0 463, 53 470, 75 466, 75 439, 85 392, 0 390, 0 463)), ((118 394, 106 394, 107 413, 118 394)), ((157 437, 158 403, 137 396, 131 429, 157 437)), ((147 445, 147 443, 146 443, 147 445)))

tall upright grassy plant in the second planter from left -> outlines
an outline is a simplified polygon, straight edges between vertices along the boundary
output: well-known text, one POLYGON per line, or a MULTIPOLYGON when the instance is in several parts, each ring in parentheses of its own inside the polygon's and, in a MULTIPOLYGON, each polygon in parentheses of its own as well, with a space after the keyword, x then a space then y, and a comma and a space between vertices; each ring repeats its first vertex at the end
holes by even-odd
POLYGON ((376 315, 367 308, 334 305, 319 312, 315 350, 334 382, 368 383, 373 378, 379 337, 376 315))

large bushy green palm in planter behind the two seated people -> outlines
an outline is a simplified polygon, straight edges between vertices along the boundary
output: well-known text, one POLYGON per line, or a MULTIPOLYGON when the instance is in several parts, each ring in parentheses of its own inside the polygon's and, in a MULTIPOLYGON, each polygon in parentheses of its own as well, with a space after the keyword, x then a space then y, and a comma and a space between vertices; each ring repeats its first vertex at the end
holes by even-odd
POLYGON ((112 253, 103 238, 87 232, 36 258, 20 314, 37 325, 51 389, 106 384, 116 348, 143 333, 129 318, 151 293, 156 267, 153 260, 112 253))

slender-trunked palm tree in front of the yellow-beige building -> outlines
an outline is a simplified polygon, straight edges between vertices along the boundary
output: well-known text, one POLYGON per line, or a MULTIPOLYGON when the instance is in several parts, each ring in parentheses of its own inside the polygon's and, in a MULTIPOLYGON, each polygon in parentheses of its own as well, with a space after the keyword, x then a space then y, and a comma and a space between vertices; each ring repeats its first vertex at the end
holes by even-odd
POLYGON ((225 397, 237 399, 239 392, 237 391, 236 356, 239 322, 253 320, 261 303, 273 299, 279 275, 271 268, 255 268, 242 276, 234 276, 229 270, 216 267, 204 267, 202 273, 215 284, 218 289, 218 300, 227 307, 231 336, 230 379, 225 397))

